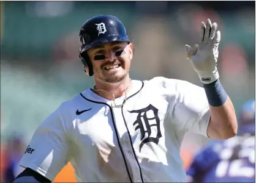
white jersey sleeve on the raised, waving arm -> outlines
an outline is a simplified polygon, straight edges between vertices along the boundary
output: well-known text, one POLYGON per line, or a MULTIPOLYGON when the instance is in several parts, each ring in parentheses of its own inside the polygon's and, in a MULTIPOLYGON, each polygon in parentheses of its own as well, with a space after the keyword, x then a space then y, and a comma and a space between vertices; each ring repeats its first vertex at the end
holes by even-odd
POLYGON ((175 95, 170 97, 171 117, 178 129, 208 137, 210 112, 204 88, 180 80, 176 80, 173 87, 175 95))

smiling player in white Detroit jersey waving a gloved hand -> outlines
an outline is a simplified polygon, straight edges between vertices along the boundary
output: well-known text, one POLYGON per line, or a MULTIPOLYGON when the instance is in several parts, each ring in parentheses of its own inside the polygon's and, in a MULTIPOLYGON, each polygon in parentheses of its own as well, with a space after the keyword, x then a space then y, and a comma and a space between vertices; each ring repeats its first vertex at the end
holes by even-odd
POLYGON ((180 148, 187 131, 216 139, 236 135, 235 110, 216 67, 216 23, 202 22, 200 43, 186 45, 203 87, 165 77, 131 79, 132 43, 115 16, 92 17, 79 36, 79 57, 95 86, 40 124, 15 182, 51 182, 67 162, 78 182, 185 182, 180 148))

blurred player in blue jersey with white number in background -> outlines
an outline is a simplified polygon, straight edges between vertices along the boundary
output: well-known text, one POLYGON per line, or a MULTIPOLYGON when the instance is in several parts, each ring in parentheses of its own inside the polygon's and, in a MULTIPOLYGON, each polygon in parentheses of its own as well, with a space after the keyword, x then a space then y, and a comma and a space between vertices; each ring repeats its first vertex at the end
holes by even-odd
POLYGON ((240 113, 238 135, 201 149, 189 169, 187 182, 255 182, 255 99, 240 113))

